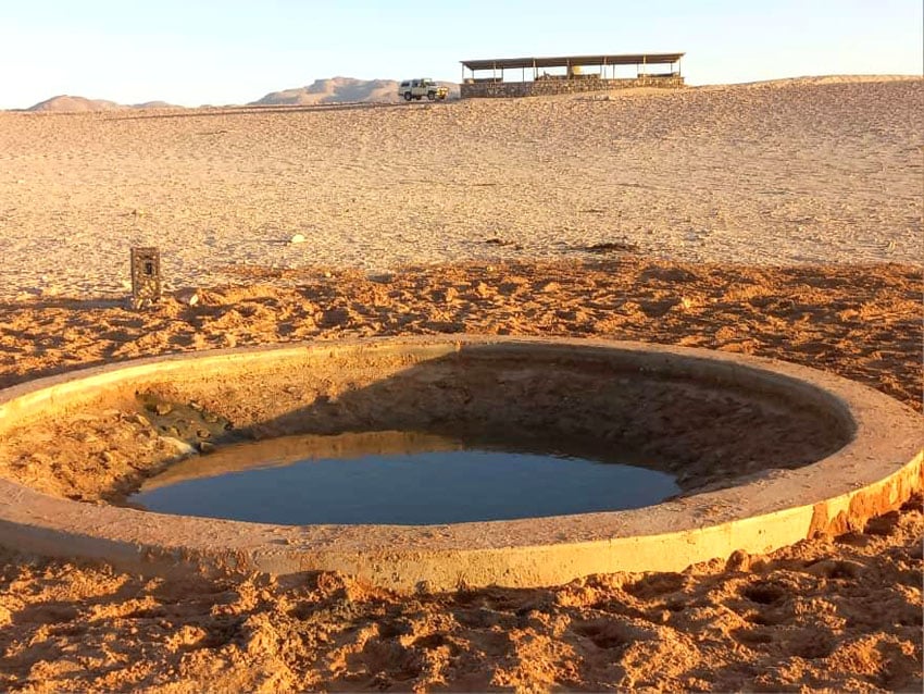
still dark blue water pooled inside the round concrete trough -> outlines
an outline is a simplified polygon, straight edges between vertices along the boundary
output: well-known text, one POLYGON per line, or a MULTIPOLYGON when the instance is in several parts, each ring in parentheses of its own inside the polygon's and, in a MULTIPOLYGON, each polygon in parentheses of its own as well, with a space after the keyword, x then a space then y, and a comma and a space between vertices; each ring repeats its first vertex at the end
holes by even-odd
POLYGON ((154 478, 129 501, 164 513, 286 525, 428 525, 639 508, 679 491, 672 475, 646 468, 477 448, 335 451, 253 464, 229 472, 210 466, 191 479, 154 478))

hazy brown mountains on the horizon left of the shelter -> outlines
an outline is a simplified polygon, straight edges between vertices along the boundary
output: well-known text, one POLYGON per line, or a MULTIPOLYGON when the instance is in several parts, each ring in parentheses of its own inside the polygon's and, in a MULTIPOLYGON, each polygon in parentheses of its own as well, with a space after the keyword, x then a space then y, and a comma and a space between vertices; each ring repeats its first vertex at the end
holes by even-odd
MULTIPOLYGON (((449 88, 449 98, 459 98, 459 85, 451 82, 439 84, 449 88)), ((395 79, 354 79, 332 77, 315 79, 307 87, 271 91, 262 99, 247 106, 315 106, 321 103, 392 103, 400 101, 398 82, 395 79)), ((165 101, 147 101, 130 106, 104 99, 58 96, 26 109, 36 112, 74 113, 86 111, 117 111, 122 109, 179 109, 165 101)))

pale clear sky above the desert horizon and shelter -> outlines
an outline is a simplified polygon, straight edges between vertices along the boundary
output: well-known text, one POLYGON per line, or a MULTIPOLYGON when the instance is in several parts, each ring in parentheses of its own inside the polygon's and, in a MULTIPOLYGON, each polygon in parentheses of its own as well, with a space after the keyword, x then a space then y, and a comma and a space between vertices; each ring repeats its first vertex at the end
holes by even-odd
POLYGON ((0 109, 246 103, 460 60, 685 51, 688 84, 922 74, 922 0, 0 0, 0 109))

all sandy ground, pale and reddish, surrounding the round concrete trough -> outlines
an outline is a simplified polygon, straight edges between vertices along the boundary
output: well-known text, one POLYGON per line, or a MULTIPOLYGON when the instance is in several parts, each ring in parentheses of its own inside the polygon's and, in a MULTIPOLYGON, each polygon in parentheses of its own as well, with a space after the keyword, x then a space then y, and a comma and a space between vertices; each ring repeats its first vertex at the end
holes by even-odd
MULTIPOLYGON (((785 359, 920 411, 922 95, 0 114, 0 386, 273 342, 592 335, 785 359), (172 290, 143 311, 136 244, 172 290)), ((921 505, 682 573, 412 597, 8 548, 0 689, 920 691, 921 505)))

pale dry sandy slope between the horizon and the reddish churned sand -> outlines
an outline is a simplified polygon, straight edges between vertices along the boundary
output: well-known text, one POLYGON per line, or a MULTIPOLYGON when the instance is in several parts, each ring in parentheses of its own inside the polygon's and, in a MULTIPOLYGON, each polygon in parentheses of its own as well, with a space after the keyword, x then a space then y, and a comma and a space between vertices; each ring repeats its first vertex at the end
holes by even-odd
POLYGON ((588 98, 0 113, 0 296, 225 264, 463 259, 916 262, 924 80, 588 98), (301 234, 307 241, 288 240, 301 234), (494 241, 494 243, 488 243, 494 241))

